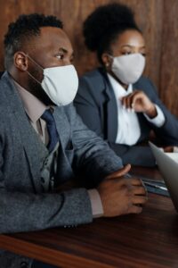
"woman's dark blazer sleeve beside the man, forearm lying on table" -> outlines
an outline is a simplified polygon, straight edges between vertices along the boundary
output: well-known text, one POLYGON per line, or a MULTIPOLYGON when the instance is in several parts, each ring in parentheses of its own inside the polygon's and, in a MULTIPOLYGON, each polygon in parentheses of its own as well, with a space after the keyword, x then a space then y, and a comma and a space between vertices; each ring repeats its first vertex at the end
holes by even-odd
MULTIPOLYGON (((99 96, 99 98, 101 97, 99 96)), ((89 129, 93 130, 97 135, 103 138, 101 113, 96 99, 96 92, 93 94, 93 83, 91 80, 88 81, 85 77, 80 79, 75 106, 77 108, 77 113, 80 114, 89 129)), ((122 158, 124 164, 131 163, 141 166, 155 165, 155 159, 149 147, 129 147, 110 141, 107 142, 109 147, 122 158)))

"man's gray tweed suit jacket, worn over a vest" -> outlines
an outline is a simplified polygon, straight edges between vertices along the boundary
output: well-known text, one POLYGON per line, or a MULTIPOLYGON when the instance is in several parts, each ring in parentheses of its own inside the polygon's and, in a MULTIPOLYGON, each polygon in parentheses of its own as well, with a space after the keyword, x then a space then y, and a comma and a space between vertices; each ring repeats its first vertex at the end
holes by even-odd
MULTIPOLYGON (((121 159, 108 145, 87 129, 73 105, 56 107, 53 116, 61 142, 57 184, 80 174, 84 176, 84 184, 94 187, 122 166, 121 159)), ((1 233, 42 230, 93 220, 85 188, 43 193, 40 143, 20 96, 5 72, 0 80, 1 233)))

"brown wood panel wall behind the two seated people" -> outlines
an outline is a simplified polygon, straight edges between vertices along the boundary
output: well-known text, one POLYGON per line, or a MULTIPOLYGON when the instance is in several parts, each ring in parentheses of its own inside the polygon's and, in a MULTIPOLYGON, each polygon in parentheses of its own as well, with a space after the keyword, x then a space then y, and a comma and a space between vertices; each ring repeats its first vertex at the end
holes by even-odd
POLYGON ((178 115, 177 0, 0 0, 0 70, 4 70, 4 33, 20 13, 59 17, 74 46, 78 74, 92 70, 98 63, 85 48, 82 23, 96 6, 111 2, 125 3, 134 9, 148 48, 145 74, 156 84, 165 105, 178 115))

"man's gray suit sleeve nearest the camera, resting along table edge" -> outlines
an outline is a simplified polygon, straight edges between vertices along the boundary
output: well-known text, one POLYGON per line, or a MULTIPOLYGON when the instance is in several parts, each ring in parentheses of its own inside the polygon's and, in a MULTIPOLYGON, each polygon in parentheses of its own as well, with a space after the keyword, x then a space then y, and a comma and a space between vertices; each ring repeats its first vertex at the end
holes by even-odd
MULTIPOLYGON (((8 145, 2 139, 0 135, 0 233, 44 230, 93 221, 91 203, 85 188, 61 193, 35 193, 26 188, 24 191, 10 188, 4 172, 7 168, 5 147, 8 145)), ((8 181, 10 179, 18 181, 23 178, 16 178, 14 174, 14 178, 8 178, 8 181)))

